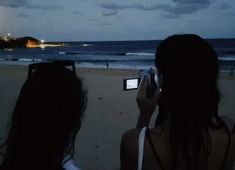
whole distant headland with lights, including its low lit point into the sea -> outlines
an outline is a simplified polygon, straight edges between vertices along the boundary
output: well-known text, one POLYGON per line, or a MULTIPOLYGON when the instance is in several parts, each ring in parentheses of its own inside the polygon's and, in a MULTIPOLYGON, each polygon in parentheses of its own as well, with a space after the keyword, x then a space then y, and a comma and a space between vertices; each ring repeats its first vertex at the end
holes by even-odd
POLYGON ((45 48, 45 47, 61 47, 65 44, 47 44, 44 40, 39 41, 38 39, 30 36, 15 38, 10 36, 0 36, 0 49, 4 48, 45 48))

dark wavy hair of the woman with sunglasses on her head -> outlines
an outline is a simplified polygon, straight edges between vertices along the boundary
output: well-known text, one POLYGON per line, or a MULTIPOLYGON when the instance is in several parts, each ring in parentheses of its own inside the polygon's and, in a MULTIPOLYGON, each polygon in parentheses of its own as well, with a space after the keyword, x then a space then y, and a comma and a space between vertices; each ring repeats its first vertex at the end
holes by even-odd
POLYGON ((0 169, 62 170, 65 156, 73 157, 85 107, 74 72, 56 64, 36 69, 19 94, 0 169))

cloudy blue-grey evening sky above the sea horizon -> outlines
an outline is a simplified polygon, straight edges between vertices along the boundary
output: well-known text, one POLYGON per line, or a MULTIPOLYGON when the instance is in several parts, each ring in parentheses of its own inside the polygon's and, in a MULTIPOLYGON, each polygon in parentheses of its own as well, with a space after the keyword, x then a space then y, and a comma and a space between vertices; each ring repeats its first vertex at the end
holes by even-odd
POLYGON ((0 0, 0 35, 46 41, 235 38, 234 0, 0 0))

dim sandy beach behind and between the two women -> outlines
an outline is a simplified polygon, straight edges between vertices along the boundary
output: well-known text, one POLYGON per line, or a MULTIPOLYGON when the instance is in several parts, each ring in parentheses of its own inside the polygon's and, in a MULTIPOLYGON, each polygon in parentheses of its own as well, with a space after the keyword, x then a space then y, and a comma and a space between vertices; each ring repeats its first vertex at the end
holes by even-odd
MULTIPOLYGON (((137 90, 123 91, 123 79, 138 77, 138 70, 77 68, 88 91, 88 105, 77 135, 75 162, 84 170, 120 169, 122 134, 135 127, 137 90)), ((27 67, 0 64, 0 137, 4 138, 27 67)), ((235 119, 235 76, 221 72, 220 113, 235 119)), ((2 141, 1 141, 2 142, 2 141)))

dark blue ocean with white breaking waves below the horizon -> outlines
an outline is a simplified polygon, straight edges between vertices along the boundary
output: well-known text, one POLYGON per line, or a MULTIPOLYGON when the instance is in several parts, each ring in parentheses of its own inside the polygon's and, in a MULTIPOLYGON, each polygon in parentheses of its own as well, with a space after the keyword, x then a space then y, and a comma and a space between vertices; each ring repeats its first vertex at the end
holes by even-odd
MULTIPOLYGON (((53 42, 62 47, 0 49, 0 62, 27 64, 44 60, 73 60, 81 67, 148 68, 160 40, 53 42)), ((221 70, 235 70, 235 39, 208 39, 221 70)), ((51 44, 51 43, 49 43, 51 44)))

